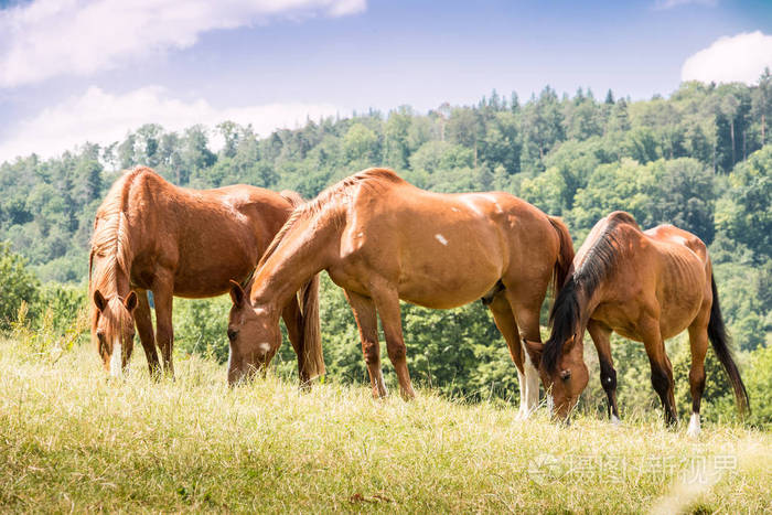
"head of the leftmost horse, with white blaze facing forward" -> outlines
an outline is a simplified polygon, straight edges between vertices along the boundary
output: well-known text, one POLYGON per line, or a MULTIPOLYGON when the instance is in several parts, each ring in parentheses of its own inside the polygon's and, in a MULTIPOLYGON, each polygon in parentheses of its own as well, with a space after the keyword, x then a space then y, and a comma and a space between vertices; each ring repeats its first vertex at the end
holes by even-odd
POLYGON ((119 376, 127 367, 133 350, 137 293, 131 291, 126 299, 117 294, 105 298, 99 290, 94 290, 93 301, 96 311, 92 323, 92 340, 105 369, 112 376, 119 376))

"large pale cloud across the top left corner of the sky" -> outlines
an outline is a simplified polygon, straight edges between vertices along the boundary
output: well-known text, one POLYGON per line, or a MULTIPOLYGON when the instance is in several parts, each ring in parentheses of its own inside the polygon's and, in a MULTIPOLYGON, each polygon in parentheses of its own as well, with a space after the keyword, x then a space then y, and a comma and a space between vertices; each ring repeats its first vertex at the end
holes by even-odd
POLYGON ((34 0, 0 10, 0 87, 93 74, 189 47, 215 29, 365 8, 366 0, 34 0))

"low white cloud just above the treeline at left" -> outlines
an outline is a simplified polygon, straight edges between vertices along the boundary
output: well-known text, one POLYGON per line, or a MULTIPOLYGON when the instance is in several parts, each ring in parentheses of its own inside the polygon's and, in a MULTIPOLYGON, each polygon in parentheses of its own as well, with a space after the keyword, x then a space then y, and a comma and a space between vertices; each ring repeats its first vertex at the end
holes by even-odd
POLYGON ((172 98, 159 86, 149 86, 125 95, 111 95, 90 87, 84 95, 46 108, 37 116, 20 121, 12 137, 0 141, 0 162, 36 153, 52 157, 86 141, 109 144, 122 140, 129 130, 143 124, 159 124, 167 130, 180 130, 195 124, 210 128, 224 120, 251 124, 260 136, 277 128, 296 128, 308 118, 334 116, 343 109, 331 104, 266 104, 217 109, 204 99, 190 103, 172 98))

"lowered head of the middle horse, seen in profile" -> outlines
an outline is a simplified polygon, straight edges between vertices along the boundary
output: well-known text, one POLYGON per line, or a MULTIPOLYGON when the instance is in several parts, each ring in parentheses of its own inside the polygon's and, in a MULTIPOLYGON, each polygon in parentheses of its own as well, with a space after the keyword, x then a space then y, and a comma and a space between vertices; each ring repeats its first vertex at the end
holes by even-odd
POLYGON ((242 286, 230 282, 228 384, 233 386, 266 369, 281 346, 281 332, 278 314, 254 308, 242 286))

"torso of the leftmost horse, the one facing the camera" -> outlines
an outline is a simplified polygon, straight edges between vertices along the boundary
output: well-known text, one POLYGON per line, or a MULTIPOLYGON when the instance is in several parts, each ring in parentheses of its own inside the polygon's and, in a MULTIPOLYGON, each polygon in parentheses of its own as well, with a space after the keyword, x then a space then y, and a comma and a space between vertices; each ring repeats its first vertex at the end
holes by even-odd
POLYGON ((289 200, 261 187, 193 190, 147 168, 116 181, 97 221, 114 207, 129 225, 132 283, 151 288, 164 269, 181 297, 219 294, 229 279, 245 278, 292 211, 289 200))

